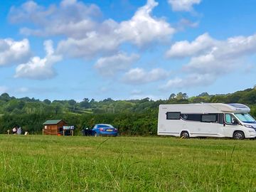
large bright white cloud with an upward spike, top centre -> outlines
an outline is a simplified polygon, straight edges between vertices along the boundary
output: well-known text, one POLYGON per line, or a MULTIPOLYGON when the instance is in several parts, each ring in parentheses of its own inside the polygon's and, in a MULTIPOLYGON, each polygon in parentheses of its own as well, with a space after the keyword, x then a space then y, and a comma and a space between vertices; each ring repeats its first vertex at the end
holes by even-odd
POLYGON ((86 33, 84 38, 68 38, 58 45, 58 53, 72 57, 90 58, 99 54, 117 51, 122 43, 133 43, 142 47, 152 41, 163 41, 175 30, 164 19, 154 18, 151 11, 156 1, 148 0, 128 21, 117 23, 104 21, 97 31, 86 33))

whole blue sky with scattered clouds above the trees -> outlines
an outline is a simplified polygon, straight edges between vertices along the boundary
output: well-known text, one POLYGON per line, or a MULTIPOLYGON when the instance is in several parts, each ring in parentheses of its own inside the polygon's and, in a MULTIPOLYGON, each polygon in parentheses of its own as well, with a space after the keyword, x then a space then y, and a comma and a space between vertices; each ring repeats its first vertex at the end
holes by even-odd
POLYGON ((0 94, 166 99, 256 85, 255 0, 0 0, 0 94))

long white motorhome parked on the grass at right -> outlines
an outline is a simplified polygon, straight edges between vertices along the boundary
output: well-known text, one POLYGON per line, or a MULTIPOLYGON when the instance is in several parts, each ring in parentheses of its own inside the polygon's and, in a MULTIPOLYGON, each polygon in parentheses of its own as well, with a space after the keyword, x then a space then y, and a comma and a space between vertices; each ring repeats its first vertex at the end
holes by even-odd
POLYGON ((256 122, 242 104, 159 105, 158 135, 255 138, 256 122))

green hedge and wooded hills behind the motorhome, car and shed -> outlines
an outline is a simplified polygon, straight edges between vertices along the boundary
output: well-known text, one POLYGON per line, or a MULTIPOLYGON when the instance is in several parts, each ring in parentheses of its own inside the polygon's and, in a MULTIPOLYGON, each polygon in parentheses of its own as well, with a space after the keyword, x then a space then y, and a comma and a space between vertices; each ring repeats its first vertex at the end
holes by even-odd
POLYGON ((156 134, 158 107, 161 104, 198 103, 198 102, 240 102, 249 105, 252 116, 256 117, 256 89, 247 89, 226 95, 209 95, 203 92, 195 97, 186 93, 172 93, 166 100, 112 100, 102 101, 85 98, 75 100, 36 100, 34 98, 10 97, 0 95, 0 133, 19 125, 24 131, 41 134, 43 122, 47 119, 64 119, 75 125, 76 134, 84 127, 96 123, 113 124, 121 134, 156 134))

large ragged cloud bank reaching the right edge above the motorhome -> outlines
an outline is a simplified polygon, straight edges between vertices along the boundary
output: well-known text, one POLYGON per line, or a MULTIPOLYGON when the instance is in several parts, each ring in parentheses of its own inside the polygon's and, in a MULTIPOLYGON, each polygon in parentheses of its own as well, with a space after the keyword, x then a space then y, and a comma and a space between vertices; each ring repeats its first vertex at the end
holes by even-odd
POLYGON ((255 53, 256 34, 236 36, 225 41, 218 41, 204 34, 192 43, 184 43, 184 41, 175 43, 169 55, 172 57, 192 55, 191 60, 182 68, 188 75, 185 78, 169 80, 166 85, 161 86, 161 89, 210 85, 222 75, 246 68, 245 58, 255 53))

